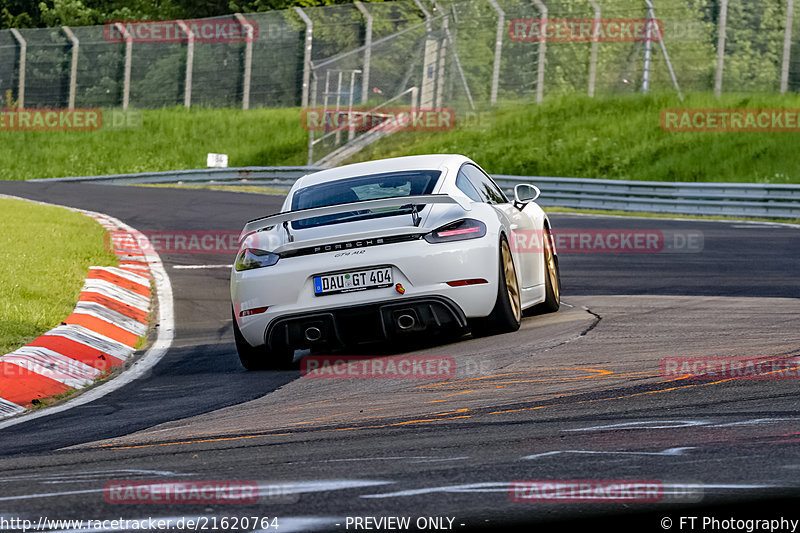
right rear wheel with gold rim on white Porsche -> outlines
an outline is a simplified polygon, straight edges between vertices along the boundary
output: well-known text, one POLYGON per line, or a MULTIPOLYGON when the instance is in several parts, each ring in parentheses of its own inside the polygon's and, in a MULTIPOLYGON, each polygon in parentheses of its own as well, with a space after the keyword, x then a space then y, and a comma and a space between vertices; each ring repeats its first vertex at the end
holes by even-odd
POLYGON ((476 337, 517 331, 522 323, 517 271, 505 237, 500 241, 499 263, 497 300, 494 308, 489 316, 470 321, 470 329, 476 337))

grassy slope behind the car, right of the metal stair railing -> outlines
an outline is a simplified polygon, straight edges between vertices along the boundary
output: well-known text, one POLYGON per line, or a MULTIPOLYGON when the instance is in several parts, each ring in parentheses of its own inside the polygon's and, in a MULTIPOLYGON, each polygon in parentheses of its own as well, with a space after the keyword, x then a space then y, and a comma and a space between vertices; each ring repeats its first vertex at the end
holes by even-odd
MULTIPOLYGON (((800 183, 800 133, 673 133, 664 108, 800 108, 798 95, 570 95, 498 106, 449 132, 402 132, 353 161, 465 154, 488 172, 657 181, 800 183)), ((458 117, 457 117, 458 119, 458 117)))

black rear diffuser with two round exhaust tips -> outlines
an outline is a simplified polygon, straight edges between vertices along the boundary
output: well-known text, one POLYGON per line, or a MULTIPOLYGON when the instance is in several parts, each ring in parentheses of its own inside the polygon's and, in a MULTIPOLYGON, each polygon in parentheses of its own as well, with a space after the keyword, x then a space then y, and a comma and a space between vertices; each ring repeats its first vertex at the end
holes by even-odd
POLYGON ((269 324, 264 342, 271 350, 343 348, 466 326, 464 312, 452 300, 427 296, 283 316, 269 324))

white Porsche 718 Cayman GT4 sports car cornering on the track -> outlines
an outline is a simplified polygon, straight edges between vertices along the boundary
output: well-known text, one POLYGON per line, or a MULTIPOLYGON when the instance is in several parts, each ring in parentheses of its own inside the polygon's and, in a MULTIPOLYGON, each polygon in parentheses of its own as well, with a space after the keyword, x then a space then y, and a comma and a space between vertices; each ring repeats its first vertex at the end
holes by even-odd
POLYGON ((525 310, 556 311, 558 258, 538 196, 521 184, 509 200, 461 155, 300 178, 280 213, 242 231, 231 272, 242 364, 283 368, 296 349, 423 332, 510 332, 525 310))

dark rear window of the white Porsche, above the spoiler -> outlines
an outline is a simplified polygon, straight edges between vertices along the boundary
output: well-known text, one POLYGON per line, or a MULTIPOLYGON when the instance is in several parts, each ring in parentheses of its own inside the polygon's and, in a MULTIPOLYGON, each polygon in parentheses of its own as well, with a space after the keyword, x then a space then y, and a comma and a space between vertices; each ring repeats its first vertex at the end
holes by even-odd
MULTIPOLYGON (((327 207, 330 205, 431 194, 441 176, 438 170, 414 170, 387 172, 345 178, 305 187, 294 193, 292 211, 327 207)), ((368 218, 395 216, 411 213, 411 206, 389 207, 383 209, 360 209, 322 217, 296 220, 293 228, 313 228, 326 224, 339 224, 368 218)))

